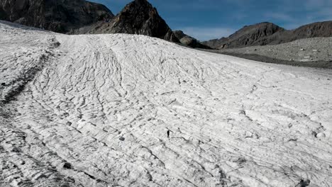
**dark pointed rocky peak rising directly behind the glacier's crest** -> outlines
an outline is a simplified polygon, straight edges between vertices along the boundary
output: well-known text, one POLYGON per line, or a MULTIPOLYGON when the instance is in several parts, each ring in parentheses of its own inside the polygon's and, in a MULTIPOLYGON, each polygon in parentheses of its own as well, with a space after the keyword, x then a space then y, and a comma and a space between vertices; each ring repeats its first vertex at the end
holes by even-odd
POLYGON ((112 21, 99 23, 88 33, 138 34, 179 42, 157 9, 146 0, 131 2, 112 21))

